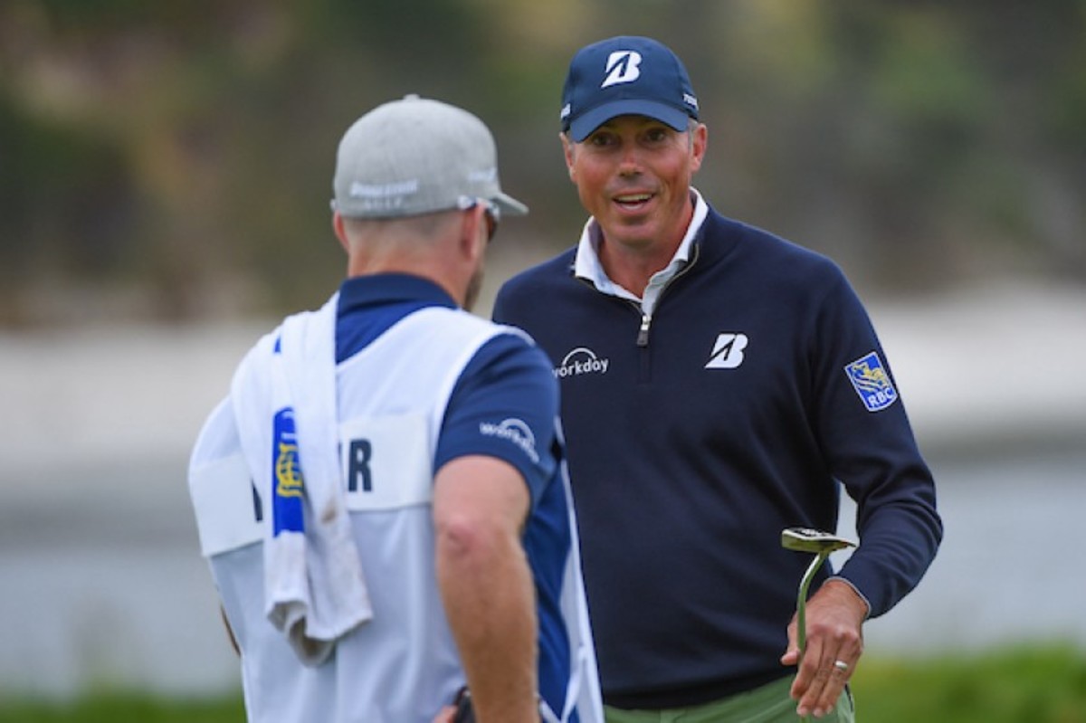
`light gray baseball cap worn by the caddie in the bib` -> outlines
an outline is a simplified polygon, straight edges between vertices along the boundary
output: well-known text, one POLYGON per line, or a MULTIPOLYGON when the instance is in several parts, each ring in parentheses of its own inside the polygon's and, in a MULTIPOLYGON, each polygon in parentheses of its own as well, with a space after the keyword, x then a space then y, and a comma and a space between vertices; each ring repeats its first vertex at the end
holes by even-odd
POLYGON ((355 120, 336 156, 332 208, 351 218, 396 218, 466 208, 484 199, 503 214, 528 206, 502 192, 490 129, 467 111, 405 96, 355 120))

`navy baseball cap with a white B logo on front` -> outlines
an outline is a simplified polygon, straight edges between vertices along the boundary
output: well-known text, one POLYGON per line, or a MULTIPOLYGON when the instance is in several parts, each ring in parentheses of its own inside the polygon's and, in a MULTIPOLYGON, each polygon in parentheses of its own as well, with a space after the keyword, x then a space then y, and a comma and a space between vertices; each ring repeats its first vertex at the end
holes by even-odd
POLYGON ((569 63, 561 129, 580 143, 620 115, 656 118, 686 130, 697 97, 682 61, 652 38, 619 36, 585 46, 569 63))

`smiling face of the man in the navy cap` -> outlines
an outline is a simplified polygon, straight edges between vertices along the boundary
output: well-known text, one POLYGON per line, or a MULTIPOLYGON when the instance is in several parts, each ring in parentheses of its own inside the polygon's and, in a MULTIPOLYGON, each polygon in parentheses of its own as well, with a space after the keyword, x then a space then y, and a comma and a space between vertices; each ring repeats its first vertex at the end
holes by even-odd
POLYGON ((580 143, 564 140, 569 177, 607 241, 641 248, 682 238, 705 139, 704 126, 680 132, 653 118, 624 115, 580 143))

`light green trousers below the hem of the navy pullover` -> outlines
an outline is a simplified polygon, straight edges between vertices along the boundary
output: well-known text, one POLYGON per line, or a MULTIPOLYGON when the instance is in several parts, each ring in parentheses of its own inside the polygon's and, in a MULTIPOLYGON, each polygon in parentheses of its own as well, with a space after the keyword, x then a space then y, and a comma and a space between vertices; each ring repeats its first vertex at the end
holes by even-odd
MULTIPOLYGON (((792 676, 736 696, 694 708, 620 710, 605 707, 607 723, 797 723, 796 701, 788 696, 792 676)), ((846 688, 836 708, 817 723, 856 723, 853 696, 846 688)))

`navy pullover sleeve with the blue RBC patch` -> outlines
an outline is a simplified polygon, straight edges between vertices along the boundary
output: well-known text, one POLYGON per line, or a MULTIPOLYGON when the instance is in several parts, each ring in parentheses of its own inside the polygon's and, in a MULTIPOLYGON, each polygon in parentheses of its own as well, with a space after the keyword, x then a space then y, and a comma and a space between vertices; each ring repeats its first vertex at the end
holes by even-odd
POLYGON ((857 503, 860 546, 839 571, 877 617, 926 572, 943 537, 935 483, 886 355, 842 275, 817 318, 815 423, 831 473, 857 503))

